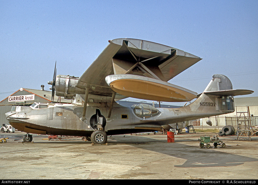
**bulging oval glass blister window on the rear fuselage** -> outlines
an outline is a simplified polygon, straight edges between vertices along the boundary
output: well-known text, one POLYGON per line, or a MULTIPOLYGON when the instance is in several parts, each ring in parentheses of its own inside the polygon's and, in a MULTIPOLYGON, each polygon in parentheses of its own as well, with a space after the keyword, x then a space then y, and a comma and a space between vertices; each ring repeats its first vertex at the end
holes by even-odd
POLYGON ((151 105, 143 104, 143 103, 136 105, 133 111, 136 116, 141 118, 143 117, 149 118, 159 114, 158 109, 156 109, 151 105))

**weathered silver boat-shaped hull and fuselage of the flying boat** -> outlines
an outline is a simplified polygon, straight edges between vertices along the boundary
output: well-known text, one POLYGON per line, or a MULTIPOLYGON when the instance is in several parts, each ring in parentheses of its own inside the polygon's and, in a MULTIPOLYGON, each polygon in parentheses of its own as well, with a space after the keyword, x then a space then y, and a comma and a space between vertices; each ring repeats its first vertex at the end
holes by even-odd
MULTIPOLYGON (((215 97, 202 94, 209 101, 216 102, 215 97)), ((128 134, 146 131, 161 130, 162 125, 185 122, 208 116, 215 116, 233 112, 234 110, 216 110, 215 106, 201 106, 200 100, 181 108, 155 108, 155 115, 148 114, 139 117, 135 114, 135 107, 115 105, 112 114, 107 119, 108 108, 102 104, 87 106, 85 119, 82 120, 83 107, 78 105, 57 106, 52 108, 31 109, 19 108, 20 112, 7 112, 6 117, 10 124, 23 132, 35 134, 90 136, 97 130, 96 118, 101 118, 101 126, 107 135, 128 134), (25 114, 26 112, 26 114, 25 114)), ((17 106, 18 107, 18 106, 17 106)), ((232 106, 233 107, 233 106, 232 106)), ((147 111, 148 109, 146 109, 147 111)), ((152 111, 154 107, 152 107, 152 111)), ((183 125, 184 126, 184 125, 183 125)), ((173 127, 173 125, 172 125, 173 127)), ((182 126, 175 126, 182 129, 182 126)))

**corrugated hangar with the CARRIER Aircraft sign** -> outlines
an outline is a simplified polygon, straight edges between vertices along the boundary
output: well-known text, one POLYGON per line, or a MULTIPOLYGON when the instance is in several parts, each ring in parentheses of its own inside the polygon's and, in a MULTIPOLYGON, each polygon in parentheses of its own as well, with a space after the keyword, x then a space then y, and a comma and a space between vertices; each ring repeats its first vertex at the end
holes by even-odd
MULTIPOLYGON (((0 125, 9 125, 5 113, 11 111, 12 106, 21 105, 21 106, 30 106, 34 102, 51 102, 51 91, 45 91, 44 85, 41 85, 41 90, 35 89, 25 89, 21 88, 18 91, 14 92, 4 100, 0 101, 0 125)), ((58 99, 57 96, 54 97, 53 102, 61 103, 71 103, 72 100, 67 99, 58 99)))

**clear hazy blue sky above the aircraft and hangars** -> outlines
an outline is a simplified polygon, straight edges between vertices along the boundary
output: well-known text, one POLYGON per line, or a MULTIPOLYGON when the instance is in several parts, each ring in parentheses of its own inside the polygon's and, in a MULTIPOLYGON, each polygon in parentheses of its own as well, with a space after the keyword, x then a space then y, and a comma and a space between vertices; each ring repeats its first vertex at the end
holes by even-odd
POLYGON ((243 97, 258 96, 257 19, 256 0, 0 0, 0 101, 21 87, 43 84, 48 90, 55 61, 58 75, 80 77, 116 38, 156 42, 202 58, 172 84, 199 94, 212 75, 223 74, 233 89, 254 91, 243 97))

